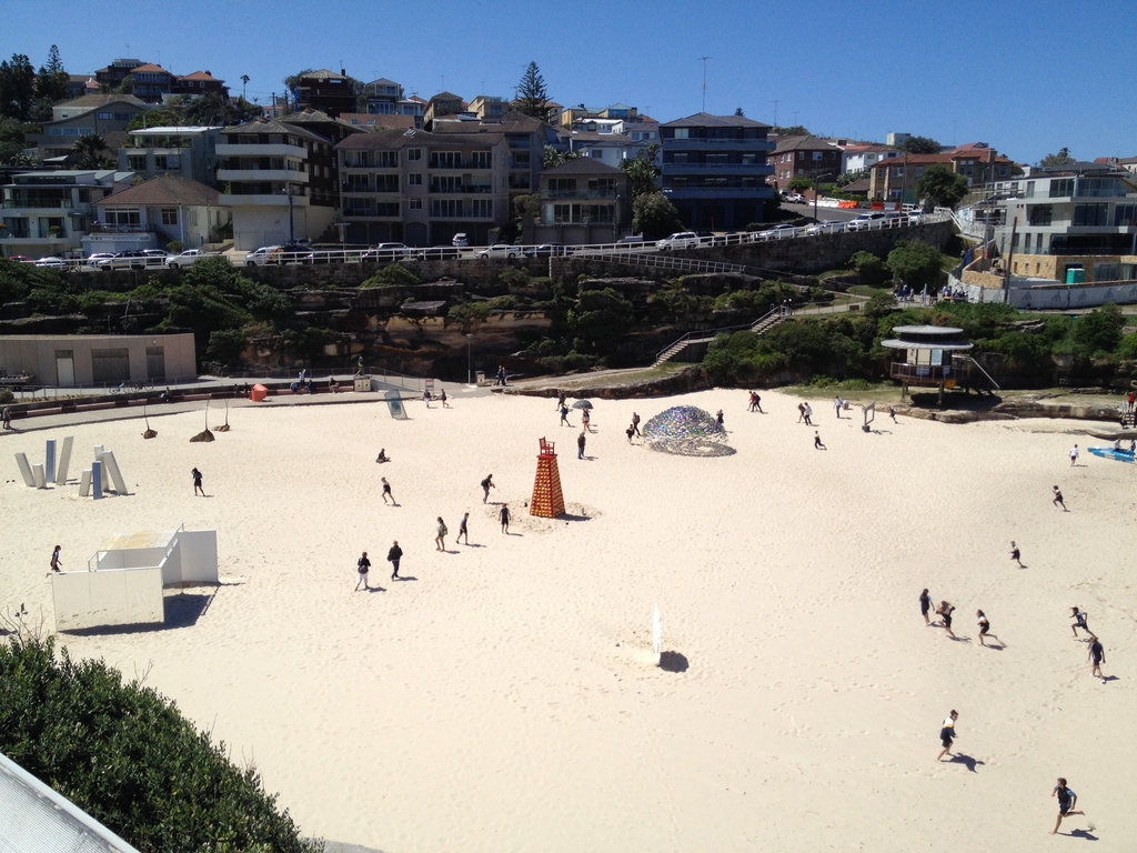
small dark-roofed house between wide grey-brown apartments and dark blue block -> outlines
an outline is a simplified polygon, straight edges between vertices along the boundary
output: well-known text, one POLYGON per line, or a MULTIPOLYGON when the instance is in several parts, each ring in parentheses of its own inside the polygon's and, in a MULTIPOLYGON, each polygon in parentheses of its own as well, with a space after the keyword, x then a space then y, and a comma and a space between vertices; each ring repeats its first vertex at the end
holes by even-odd
POLYGON ((628 175, 590 157, 541 172, 532 242, 612 243, 631 225, 628 175))

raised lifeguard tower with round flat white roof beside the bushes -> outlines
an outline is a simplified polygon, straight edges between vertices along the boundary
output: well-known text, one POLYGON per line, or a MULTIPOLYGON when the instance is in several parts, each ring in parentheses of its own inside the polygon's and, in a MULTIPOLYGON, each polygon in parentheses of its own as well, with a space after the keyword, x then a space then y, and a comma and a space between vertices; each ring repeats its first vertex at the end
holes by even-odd
POLYGON ((904 350, 903 362, 893 362, 888 375, 902 383, 901 396, 908 394, 910 386, 939 388, 939 401, 944 401, 944 390, 960 384, 972 384, 972 372, 981 373, 991 387, 998 388, 970 351, 972 345, 963 339, 963 330, 948 325, 898 325, 893 330, 898 338, 882 340, 880 345, 889 349, 904 350))

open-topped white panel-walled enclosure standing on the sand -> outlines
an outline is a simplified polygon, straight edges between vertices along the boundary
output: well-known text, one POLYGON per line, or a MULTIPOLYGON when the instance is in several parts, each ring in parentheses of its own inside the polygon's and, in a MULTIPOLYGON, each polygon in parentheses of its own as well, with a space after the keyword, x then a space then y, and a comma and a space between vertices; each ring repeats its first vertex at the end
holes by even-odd
POLYGON ((111 538, 86 570, 51 575, 56 630, 165 621, 163 590, 217 583, 217 531, 136 532, 111 538))

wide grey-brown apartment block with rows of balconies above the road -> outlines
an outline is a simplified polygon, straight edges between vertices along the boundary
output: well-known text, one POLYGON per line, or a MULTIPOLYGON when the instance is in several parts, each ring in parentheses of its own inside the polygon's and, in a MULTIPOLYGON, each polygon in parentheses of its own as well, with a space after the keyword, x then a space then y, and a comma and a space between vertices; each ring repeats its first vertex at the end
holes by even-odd
POLYGON ((501 133, 376 130, 337 147, 340 218, 354 243, 488 243, 509 220, 501 133))

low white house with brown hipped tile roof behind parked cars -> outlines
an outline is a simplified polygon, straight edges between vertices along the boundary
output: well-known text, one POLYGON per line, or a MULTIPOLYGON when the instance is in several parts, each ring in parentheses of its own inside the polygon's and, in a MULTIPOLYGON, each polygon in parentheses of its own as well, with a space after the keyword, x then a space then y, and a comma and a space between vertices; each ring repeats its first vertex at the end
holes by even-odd
POLYGON ((83 239, 88 255, 161 248, 174 240, 184 248, 217 242, 232 209, 222 207, 214 188, 171 175, 123 187, 94 208, 99 227, 83 239))

